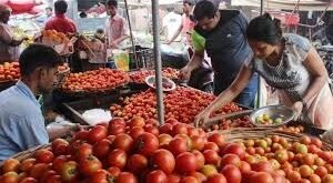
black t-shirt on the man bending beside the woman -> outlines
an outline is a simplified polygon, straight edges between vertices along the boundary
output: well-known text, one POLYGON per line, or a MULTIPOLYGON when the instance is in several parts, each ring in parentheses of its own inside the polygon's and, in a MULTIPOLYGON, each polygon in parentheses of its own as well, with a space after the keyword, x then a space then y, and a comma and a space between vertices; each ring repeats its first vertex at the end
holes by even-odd
POLYGON ((205 38, 205 51, 215 77, 230 85, 252 50, 245 38, 248 20, 238 10, 220 10, 220 22, 212 31, 198 26, 194 29, 205 38))

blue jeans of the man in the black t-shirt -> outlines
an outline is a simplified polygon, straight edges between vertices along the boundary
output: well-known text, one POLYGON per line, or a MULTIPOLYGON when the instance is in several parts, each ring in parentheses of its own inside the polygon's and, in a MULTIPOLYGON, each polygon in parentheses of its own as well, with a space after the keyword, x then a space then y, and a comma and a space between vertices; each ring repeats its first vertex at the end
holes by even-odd
MULTIPOLYGON (((216 77, 214 78, 214 94, 219 95, 222 91, 228 89, 231 85, 232 81, 225 81, 223 78, 216 77)), ((258 74, 254 73, 250 79, 246 88, 238 95, 234 102, 254 108, 255 94, 258 91, 258 74)))

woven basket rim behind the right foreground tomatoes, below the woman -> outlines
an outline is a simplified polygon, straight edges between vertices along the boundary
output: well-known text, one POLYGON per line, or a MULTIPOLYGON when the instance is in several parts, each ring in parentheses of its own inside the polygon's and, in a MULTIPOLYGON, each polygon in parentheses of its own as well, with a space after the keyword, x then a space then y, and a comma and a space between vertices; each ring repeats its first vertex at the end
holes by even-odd
MULTIPOLYGON (((232 129, 219 131, 224 135, 225 141, 228 142, 240 142, 248 139, 260 139, 266 136, 279 135, 285 138, 290 142, 297 142, 305 134, 302 133, 291 133, 285 131, 280 131, 271 128, 242 128, 242 129, 232 129)), ((333 144, 323 142, 323 150, 332 151, 333 144)))

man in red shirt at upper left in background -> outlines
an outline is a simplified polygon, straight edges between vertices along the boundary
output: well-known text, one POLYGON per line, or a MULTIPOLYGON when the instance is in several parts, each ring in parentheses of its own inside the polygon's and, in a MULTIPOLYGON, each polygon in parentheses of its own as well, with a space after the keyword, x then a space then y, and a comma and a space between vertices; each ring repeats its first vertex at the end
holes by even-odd
POLYGON ((46 23, 46 30, 56 30, 63 33, 77 32, 75 23, 65 17, 68 4, 64 0, 57 0, 54 2, 56 16, 46 23))

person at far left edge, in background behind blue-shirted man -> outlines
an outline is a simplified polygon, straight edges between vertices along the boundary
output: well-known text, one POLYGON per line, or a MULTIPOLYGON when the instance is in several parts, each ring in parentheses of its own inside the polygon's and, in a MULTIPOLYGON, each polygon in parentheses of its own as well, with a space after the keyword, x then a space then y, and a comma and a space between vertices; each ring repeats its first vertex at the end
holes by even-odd
POLYGON ((14 40, 13 30, 8 24, 11 8, 0 4, 0 64, 19 59, 19 45, 24 39, 14 40))

